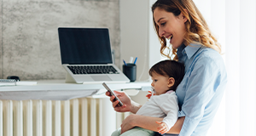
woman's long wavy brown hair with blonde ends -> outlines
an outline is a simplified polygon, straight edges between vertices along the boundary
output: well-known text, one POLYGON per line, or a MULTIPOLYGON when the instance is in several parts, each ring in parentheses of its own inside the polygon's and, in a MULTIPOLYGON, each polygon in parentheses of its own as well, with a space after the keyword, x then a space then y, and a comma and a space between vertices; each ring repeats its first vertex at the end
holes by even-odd
MULTIPOLYGON (((206 20, 204 20, 201 12, 196 8, 195 3, 192 0, 158 0, 152 6, 153 14, 155 8, 164 9, 166 12, 171 12, 175 16, 182 13, 188 19, 185 22, 187 32, 184 35, 183 42, 186 46, 190 43, 200 43, 207 48, 215 49, 219 54, 221 53, 221 45, 217 41, 216 37, 212 35, 212 32, 207 26, 206 20)), ((171 48, 166 46, 166 38, 159 36, 159 26, 157 26, 155 22, 154 29, 160 39, 160 53, 171 59, 171 48), (168 54, 164 53, 166 48, 169 49, 168 54)), ((175 55, 174 59, 177 60, 177 49, 172 48, 172 54, 175 55)))

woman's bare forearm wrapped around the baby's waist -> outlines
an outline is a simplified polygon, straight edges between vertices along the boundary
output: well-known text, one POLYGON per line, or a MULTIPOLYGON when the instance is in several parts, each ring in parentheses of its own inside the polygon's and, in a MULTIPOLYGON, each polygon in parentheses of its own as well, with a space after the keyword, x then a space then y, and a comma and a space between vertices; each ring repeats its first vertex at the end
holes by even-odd
MULTIPOLYGON (((179 133, 183 127, 185 116, 177 119, 177 122, 167 133, 179 133)), ((161 122, 163 118, 151 117, 151 116, 139 116, 131 115, 127 116, 121 125, 121 133, 125 133, 132 127, 143 127, 148 130, 157 132, 158 124, 155 121, 161 122)))

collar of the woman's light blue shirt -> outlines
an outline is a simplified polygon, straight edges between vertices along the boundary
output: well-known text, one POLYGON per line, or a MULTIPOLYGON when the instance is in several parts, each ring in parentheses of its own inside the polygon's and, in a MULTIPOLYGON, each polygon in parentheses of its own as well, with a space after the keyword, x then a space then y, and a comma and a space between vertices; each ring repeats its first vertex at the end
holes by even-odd
POLYGON ((201 47, 201 44, 191 43, 187 47, 184 44, 182 44, 179 48, 177 48, 177 57, 181 58, 183 55, 187 55, 188 59, 190 59, 201 47))

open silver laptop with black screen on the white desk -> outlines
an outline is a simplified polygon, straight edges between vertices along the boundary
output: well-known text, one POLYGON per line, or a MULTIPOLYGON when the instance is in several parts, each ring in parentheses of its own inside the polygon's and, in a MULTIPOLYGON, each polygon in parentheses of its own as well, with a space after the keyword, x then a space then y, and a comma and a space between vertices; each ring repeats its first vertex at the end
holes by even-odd
POLYGON ((59 27, 66 82, 130 82, 113 64, 108 28, 59 27))

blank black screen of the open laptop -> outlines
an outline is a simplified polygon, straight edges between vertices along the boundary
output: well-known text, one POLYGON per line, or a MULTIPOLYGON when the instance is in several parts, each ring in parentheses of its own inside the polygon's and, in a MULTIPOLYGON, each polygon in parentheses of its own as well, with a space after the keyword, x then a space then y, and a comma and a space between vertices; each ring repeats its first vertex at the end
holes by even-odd
POLYGON ((61 63, 109 64, 112 54, 108 28, 58 28, 61 63))

